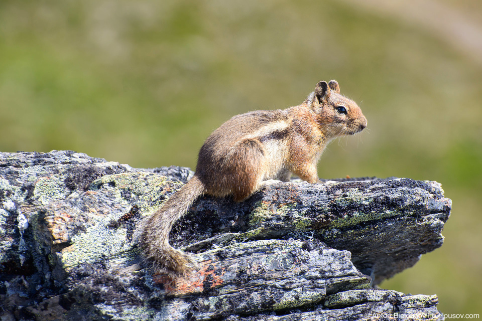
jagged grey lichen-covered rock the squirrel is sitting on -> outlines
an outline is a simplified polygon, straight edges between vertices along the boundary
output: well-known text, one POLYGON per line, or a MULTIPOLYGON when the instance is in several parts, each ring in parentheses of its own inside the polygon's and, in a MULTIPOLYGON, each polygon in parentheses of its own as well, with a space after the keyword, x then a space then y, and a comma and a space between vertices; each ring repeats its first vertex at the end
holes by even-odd
POLYGON ((293 181, 238 204, 201 197, 171 233, 199 270, 171 280, 143 263, 136 227, 192 174, 0 153, 0 318, 438 319, 436 295, 375 286, 442 245, 440 184, 293 181))

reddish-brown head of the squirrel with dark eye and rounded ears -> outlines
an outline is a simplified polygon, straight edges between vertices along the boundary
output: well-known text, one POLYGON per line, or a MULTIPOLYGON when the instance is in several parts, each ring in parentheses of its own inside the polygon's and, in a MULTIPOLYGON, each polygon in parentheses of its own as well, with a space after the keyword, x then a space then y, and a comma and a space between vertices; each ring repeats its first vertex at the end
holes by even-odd
POLYGON ((367 127, 367 118, 351 99, 340 95, 336 80, 320 81, 308 97, 316 122, 327 138, 352 135, 367 127))

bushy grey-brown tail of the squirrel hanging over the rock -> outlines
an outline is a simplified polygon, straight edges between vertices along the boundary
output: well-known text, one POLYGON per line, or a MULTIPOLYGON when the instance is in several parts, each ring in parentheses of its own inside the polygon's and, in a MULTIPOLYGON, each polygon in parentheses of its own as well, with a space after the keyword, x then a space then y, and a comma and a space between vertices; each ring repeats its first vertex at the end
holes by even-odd
POLYGON ((196 264, 189 255, 169 244, 169 233, 174 223, 188 211, 204 191, 203 184, 194 176, 164 202, 157 212, 145 220, 142 230, 144 254, 156 272, 174 278, 188 274, 195 267, 196 264))

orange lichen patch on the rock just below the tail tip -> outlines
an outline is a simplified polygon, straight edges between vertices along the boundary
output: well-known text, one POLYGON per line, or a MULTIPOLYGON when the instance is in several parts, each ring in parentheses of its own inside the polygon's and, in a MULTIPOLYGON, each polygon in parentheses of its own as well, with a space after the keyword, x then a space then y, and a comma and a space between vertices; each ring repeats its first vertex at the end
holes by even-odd
POLYGON ((164 285, 167 294, 174 296, 192 295, 209 290, 223 283, 225 268, 216 268, 212 260, 200 263, 200 268, 186 277, 170 278, 166 274, 155 274, 155 283, 164 285))

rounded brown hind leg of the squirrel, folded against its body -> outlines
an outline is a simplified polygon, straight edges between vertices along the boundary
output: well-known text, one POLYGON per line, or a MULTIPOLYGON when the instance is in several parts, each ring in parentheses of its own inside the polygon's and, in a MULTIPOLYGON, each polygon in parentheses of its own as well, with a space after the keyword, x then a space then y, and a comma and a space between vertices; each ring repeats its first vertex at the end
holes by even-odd
POLYGON ((241 202, 255 193, 261 182, 266 167, 266 151, 255 138, 245 138, 233 146, 227 155, 234 202, 241 202))

